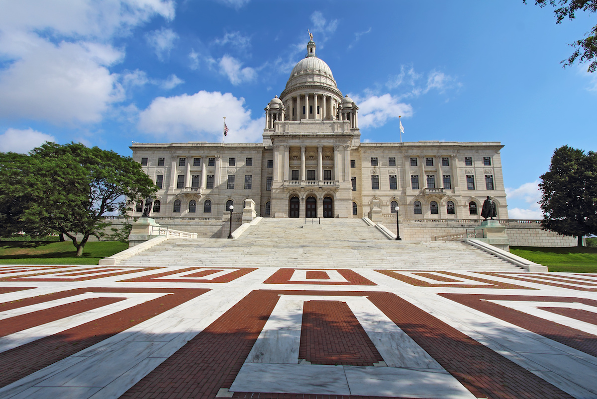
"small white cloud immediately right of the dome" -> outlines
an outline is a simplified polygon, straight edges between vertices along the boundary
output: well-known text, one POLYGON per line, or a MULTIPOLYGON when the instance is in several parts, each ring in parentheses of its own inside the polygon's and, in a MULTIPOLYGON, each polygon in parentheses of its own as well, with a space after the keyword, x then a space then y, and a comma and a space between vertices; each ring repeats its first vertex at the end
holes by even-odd
POLYGON ((356 95, 350 95, 350 97, 359 106, 358 118, 361 128, 378 128, 389 119, 413 115, 413 107, 410 104, 399 103, 399 98, 392 97, 391 94, 380 96, 370 94, 365 98, 359 98, 356 95))

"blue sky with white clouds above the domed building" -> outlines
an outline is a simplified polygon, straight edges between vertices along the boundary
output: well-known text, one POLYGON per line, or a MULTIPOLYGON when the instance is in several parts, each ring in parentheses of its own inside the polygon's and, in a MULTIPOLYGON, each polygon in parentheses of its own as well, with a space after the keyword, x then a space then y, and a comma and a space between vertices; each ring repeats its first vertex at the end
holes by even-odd
POLYGON ((562 68, 596 16, 533 1, 0 0, 0 151, 258 142, 307 29, 363 141, 501 141, 511 218, 553 150, 597 147, 597 73, 562 68))

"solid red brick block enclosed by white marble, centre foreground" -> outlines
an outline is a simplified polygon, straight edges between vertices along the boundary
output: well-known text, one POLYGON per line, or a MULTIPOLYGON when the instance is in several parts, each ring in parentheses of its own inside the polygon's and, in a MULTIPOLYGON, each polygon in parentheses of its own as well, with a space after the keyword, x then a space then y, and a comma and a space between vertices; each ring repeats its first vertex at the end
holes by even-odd
POLYGON ((304 302, 298 358, 343 366, 383 361, 346 302, 338 301, 304 302))

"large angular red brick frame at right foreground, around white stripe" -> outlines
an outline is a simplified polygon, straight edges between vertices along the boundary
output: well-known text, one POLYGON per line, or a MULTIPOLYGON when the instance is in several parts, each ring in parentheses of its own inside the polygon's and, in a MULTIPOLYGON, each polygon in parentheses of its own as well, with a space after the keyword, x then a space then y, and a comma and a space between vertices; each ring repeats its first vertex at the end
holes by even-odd
MULTIPOLYGON (((533 302, 580 302, 597 307, 597 301, 584 298, 566 298, 561 296, 521 296, 521 295, 482 295, 441 293, 439 294, 459 304, 482 311, 491 316, 500 318, 508 323, 515 324, 553 341, 560 342, 568 347, 578 349, 586 354, 597 356, 597 337, 595 335, 563 326, 544 318, 514 310, 490 301, 533 301, 533 302)), ((568 315, 565 315, 568 316, 568 315)))

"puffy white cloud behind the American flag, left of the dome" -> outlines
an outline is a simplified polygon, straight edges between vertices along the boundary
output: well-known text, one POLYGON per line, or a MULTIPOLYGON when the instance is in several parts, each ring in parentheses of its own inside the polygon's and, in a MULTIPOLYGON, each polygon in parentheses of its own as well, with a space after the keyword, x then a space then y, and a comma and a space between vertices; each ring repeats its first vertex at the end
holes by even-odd
POLYGON ((168 141, 217 141, 223 131, 223 117, 230 129, 226 141, 247 143, 259 140, 265 120, 251 119, 245 99, 230 93, 199 91, 193 95, 158 97, 139 114, 139 129, 168 141))

